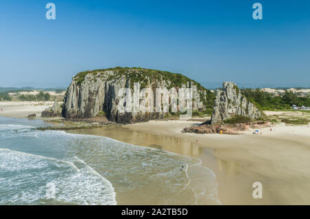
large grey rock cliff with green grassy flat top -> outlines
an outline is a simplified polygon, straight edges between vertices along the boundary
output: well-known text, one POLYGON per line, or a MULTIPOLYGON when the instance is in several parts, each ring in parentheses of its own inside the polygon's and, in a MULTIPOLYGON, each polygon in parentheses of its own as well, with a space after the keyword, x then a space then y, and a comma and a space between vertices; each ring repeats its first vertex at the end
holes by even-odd
MULTIPOLYGON (((164 112, 121 112, 118 107, 121 98, 118 92, 123 88, 129 88, 134 92, 134 83, 140 83, 142 88, 170 89, 171 87, 194 87, 193 110, 205 110, 208 103, 207 96, 211 94, 200 84, 181 74, 162 72, 158 70, 147 70, 143 68, 113 68, 107 70, 94 70, 91 72, 81 72, 74 76, 72 83, 68 87, 63 103, 63 117, 65 118, 90 118, 100 112, 105 112, 105 116, 110 121, 116 123, 132 123, 138 121, 148 121, 150 119, 163 118, 164 112)), ((151 106, 151 101, 155 101, 146 95, 146 106, 151 106)), ((139 101, 139 100, 138 100, 139 101)), ((141 101, 141 100, 140 100, 141 101)), ((140 103, 140 102, 139 102, 140 103)), ((137 104, 139 104, 137 103, 137 104)), ((136 105, 137 105, 136 104, 136 105)), ((123 104, 126 107, 126 104, 123 104)), ((135 104, 132 107, 136 106, 135 104)))

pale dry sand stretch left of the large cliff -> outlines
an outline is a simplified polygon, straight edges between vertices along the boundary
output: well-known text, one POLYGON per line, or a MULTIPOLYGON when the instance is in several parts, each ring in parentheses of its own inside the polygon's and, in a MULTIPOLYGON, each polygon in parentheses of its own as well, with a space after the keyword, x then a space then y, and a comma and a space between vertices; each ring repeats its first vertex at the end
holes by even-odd
POLYGON ((41 118, 41 112, 53 105, 52 101, 8 101, 0 102, 0 116, 13 118, 27 118, 29 114, 36 114, 41 118))

